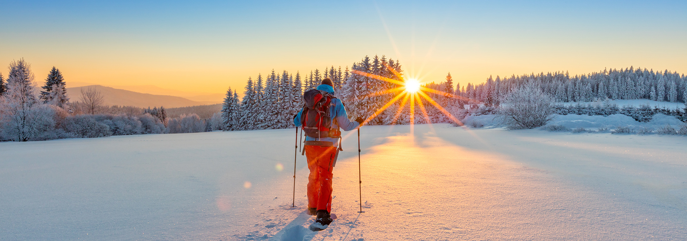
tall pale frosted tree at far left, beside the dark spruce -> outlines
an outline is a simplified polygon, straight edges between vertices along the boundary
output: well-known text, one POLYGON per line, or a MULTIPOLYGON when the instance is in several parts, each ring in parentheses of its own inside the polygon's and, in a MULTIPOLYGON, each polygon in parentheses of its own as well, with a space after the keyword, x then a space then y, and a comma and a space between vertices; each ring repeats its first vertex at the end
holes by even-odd
POLYGON ((34 73, 23 58, 10 62, 7 91, 0 98, 0 134, 14 141, 28 141, 36 135, 31 108, 38 104, 34 95, 34 73))

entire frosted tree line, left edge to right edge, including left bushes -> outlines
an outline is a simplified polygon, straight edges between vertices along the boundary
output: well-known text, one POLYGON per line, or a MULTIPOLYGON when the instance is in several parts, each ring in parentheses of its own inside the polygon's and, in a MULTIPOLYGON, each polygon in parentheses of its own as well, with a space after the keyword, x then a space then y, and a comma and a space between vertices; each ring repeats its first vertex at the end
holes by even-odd
MULTIPOLYGON (((40 89, 34 83, 31 65, 20 59, 10 63, 7 76, 0 73, 0 140, 31 141, 69 137, 104 137, 146 133, 195 133, 212 130, 257 130, 293 128, 293 115, 302 108, 302 93, 314 89, 324 78, 335 85, 335 96, 346 105, 349 117, 371 117, 368 124, 423 124, 452 122, 466 115, 496 113, 506 96, 524 86, 539 89, 554 102, 594 102, 647 99, 664 102, 687 100, 687 77, 653 69, 611 69, 570 76, 567 72, 531 73, 501 78, 490 76, 480 84, 454 82, 451 74, 440 82, 425 83, 426 98, 391 101, 400 87, 403 69, 398 60, 365 56, 350 67, 334 66, 324 71, 271 71, 248 78, 239 97, 238 89, 227 90, 221 111, 218 106, 136 108, 103 106, 97 89, 85 89, 79 100, 69 100, 65 78, 53 67, 40 89), (391 81, 384 81, 381 79, 391 81), (454 86, 455 84, 455 86, 454 86), (440 110, 430 102, 442 106, 440 110), (383 106, 390 103, 388 108, 383 106), (412 108, 412 106, 415 106, 412 108), (198 112, 198 114, 196 114, 198 112), (172 113, 168 116, 168 113, 172 113), (202 115, 199 116, 199 115, 202 115)), ((684 111, 657 106, 554 105, 555 113, 611 115, 622 113, 640 121, 655 113, 686 120, 684 111)))

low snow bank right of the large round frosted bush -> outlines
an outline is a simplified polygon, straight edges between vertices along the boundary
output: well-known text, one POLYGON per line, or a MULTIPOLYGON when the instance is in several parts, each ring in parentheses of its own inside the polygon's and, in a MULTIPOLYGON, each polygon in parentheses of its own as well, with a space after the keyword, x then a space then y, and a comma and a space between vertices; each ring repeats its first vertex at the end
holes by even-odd
POLYGON ((617 128, 618 126, 627 126, 631 129, 638 128, 660 128, 669 124, 671 126, 682 126, 685 123, 681 122, 674 116, 656 114, 653 115, 649 122, 638 122, 632 117, 622 114, 613 114, 609 116, 602 115, 556 115, 549 124, 565 126, 567 128, 601 128, 608 126, 609 128, 617 128))

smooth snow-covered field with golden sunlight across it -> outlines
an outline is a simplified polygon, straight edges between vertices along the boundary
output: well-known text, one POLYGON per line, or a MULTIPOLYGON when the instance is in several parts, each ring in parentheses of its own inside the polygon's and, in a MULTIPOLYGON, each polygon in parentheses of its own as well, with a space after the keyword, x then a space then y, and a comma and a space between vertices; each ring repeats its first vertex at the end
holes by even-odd
POLYGON ((687 240, 687 137, 350 134, 317 233, 294 129, 0 143, 0 240, 687 240))

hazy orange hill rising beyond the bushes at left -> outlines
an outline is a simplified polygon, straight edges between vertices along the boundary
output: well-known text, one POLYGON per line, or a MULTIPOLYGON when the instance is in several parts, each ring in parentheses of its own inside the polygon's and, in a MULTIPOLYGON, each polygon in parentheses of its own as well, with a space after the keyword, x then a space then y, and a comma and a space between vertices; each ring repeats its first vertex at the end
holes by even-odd
MULTIPOLYGON (((67 83, 67 95, 73 101, 78 101, 80 98, 80 91, 84 88, 95 87, 103 95, 104 104, 113 106, 136 106, 141 108, 148 108, 153 106, 165 106, 166 108, 183 107, 183 106, 198 106, 204 104, 216 104, 220 101, 194 101, 184 97, 172 95, 153 95, 150 93, 139 93, 135 91, 127 91, 125 89, 115 89, 113 87, 104 87, 102 85, 87 85, 80 87, 69 87, 71 83, 67 83)), ((75 84, 78 85, 78 84, 75 84)))

